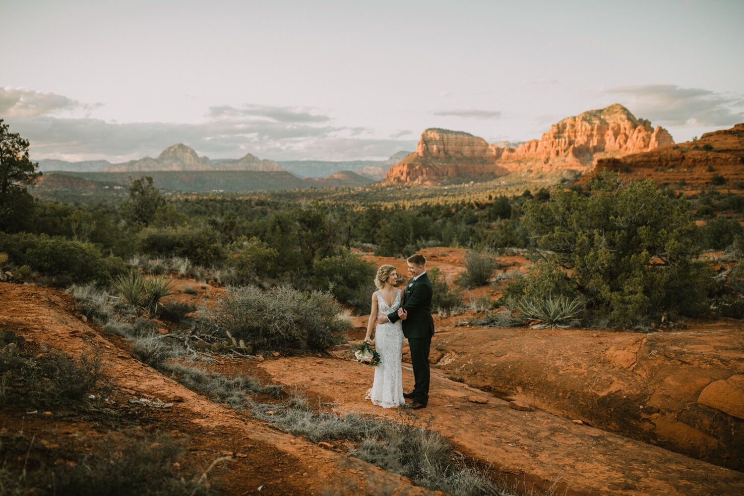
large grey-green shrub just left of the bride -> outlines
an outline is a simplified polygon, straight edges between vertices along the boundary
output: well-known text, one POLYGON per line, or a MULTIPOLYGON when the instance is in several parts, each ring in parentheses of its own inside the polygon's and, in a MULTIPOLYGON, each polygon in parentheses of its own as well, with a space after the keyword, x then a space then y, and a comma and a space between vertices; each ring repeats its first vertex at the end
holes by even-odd
POLYGON ((339 343, 349 328, 339 311, 326 292, 302 293, 289 287, 263 292, 237 286, 225 292, 213 318, 255 350, 321 350, 339 343))

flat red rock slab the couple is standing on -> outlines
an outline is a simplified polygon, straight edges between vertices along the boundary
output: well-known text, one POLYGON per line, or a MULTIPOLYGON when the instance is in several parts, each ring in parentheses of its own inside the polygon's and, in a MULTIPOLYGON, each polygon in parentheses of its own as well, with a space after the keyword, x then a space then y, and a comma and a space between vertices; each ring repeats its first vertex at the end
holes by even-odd
MULTIPOLYGON (((483 392, 438 373, 426 410, 388 409, 365 401, 373 369, 347 358, 279 358, 257 364, 273 381, 301 385, 307 395, 338 403, 339 412, 371 413, 429 422, 459 451, 490 466, 519 491, 549 490, 565 495, 689 496, 740 495, 744 474, 694 460, 658 446, 589 425, 577 425, 542 411, 519 411, 496 397, 486 405, 469 402, 483 392)), ((404 389, 413 384, 404 367, 404 389)))

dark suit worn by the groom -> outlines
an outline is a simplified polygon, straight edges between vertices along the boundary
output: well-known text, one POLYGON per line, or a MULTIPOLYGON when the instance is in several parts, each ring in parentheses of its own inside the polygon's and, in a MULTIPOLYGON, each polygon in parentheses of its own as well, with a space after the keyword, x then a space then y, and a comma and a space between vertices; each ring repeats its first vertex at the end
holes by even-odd
MULTIPOLYGON (((411 365, 414 368, 414 403, 426 406, 429 402, 429 348, 434 335, 432 318, 432 281, 426 272, 417 280, 412 278, 405 284, 403 309, 408 313, 403 321, 403 335, 408 338, 411 349, 411 365)), ((398 312, 388 314, 388 320, 400 320, 398 312)))

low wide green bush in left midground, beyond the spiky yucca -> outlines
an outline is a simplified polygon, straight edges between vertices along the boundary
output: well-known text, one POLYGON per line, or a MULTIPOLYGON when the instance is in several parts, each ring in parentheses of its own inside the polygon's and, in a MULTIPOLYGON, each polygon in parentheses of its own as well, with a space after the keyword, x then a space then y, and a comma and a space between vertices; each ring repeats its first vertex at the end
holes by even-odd
POLYGON ((219 233, 209 225, 144 228, 137 236, 138 249, 159 257, 189 257, 199 265, 225 259, 219 233))

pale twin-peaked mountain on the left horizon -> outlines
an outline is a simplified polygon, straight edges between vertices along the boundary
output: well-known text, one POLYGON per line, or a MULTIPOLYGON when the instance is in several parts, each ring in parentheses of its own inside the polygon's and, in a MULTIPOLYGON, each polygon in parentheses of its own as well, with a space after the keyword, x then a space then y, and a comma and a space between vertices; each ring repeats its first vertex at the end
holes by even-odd
POLYGON ((164 149, 158 158, 145 157, 124 164, 106 167, 107 173, 148 172, 155 170, 282 170, 275 161, 261 160, 248 153, 243 158, 210 160, 199 155, 190 146, 176 144, 164 149))

